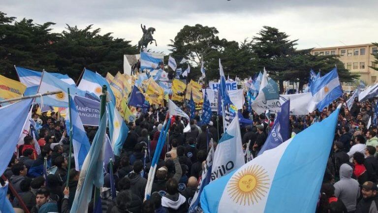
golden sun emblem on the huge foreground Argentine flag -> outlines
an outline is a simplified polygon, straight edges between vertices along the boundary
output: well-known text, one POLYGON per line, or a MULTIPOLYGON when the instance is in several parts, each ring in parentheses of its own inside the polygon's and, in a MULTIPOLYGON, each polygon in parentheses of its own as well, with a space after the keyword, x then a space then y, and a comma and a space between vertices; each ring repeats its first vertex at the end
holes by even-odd
POLYGON ((227 184, 231 199, 239 205, 258 203, 266 196, 269 176, 262 166, 253 165, 234 175, 227 184))

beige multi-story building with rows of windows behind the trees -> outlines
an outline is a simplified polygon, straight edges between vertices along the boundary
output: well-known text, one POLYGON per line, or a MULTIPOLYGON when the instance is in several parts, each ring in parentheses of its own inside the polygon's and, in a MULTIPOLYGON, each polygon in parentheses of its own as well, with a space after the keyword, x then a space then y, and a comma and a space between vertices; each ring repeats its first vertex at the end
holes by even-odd
POLYGON ((339 47, 315 48, 312 55, 340 55, 339 60, 350 72, 360 75, 360 79, 368 85, 377 81, 378 67, 372 54, 377 54, 378 48, 373 44, 347 45, 339 47))

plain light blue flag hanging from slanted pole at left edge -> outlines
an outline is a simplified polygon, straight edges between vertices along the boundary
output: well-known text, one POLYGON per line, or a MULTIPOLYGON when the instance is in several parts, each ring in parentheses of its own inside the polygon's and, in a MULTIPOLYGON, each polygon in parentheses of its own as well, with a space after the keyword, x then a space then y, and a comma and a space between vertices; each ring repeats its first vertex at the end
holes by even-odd
POLYGON ((0 174, 4 173, 12 158, 25 121, 27 121, 31 105, 32 99, 25 99, 0 108, 0 118, 2 121, 7 121, 2 122, 0 125, 0 135, 2 137, 0 174))

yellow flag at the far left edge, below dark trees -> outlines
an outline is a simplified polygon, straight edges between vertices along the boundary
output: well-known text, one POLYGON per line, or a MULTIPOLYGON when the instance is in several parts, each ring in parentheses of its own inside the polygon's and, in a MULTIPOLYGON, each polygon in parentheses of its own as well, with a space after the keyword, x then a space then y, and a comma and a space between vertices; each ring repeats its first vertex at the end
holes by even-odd
POLYGON ((10 99, 21 97, 25 92, 26 86, 21 82, 6 78, 0 75, 0 98, 10 99))

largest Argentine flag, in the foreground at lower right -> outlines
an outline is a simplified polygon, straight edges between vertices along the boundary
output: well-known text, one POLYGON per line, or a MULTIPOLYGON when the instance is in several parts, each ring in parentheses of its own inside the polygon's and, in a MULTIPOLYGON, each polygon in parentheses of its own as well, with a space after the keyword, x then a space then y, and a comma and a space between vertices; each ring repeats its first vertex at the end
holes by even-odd
POLYGON ((203 211, 314 213, 339 108, 322 122, 205 186, 201 194, 203 211))

